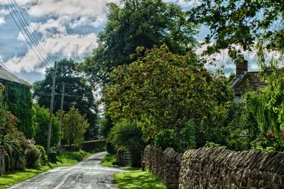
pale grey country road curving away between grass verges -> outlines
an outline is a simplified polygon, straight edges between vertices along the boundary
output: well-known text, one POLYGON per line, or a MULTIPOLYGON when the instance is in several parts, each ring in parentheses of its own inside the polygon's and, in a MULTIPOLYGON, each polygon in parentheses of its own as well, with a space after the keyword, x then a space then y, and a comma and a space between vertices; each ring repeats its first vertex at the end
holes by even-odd
POLYGON ((116 188, 114 173, 124 170, 101 165, 106 152, 94 154, 75 166, 53 168, 11 188, 116 188))

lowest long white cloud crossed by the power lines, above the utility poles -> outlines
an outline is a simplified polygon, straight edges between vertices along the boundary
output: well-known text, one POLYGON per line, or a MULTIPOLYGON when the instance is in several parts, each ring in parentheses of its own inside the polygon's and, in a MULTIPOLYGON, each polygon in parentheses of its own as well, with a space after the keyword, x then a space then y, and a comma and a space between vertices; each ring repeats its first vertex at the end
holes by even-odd
MULTIPOLYGON (((96 40, 97 36, 93 33, 89 35, 58 34, 40 42, 40 46, 43 47, 48 55, 77 58, 89 55, 92 52, 92 49, 97 46, 96 40)), ((39 61, 38 57, 31 49, 28 50, 23 57, 13 57, 9 59, 5 65, 13 72, 36 71, 44 73, 45 71, 44 65, 39 61)))

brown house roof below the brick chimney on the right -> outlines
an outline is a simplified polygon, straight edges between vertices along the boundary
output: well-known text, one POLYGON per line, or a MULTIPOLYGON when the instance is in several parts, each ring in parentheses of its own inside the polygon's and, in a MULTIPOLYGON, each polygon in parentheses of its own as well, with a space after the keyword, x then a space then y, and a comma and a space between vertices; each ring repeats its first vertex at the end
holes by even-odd
POLYGON ((235 77, 232 82, 235 95, 244 94, 250 88, 256 91, 258 88, 266 86, 266 83, 259 78, 258 71, 246 72, 241 79, 235 77))

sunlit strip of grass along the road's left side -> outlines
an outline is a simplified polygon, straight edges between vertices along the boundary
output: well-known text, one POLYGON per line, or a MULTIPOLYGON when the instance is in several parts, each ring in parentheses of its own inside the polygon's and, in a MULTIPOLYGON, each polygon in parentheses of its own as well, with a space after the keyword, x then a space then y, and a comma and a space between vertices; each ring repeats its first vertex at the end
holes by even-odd
POLYGON ((82 161, 84 157, 89 156, 90 153, 86 151, 75 151, 75 152, 65 152, 58 156, 58 163, 51 164, 48 162, 45 166, 40 166, 39 168, 26 168, 23 171, 14 171, 12 173, 5 173, 3 176, 0 176, 0 189, 9 188, 11 185, 19 183, 21 181, 28 180, 33 178, 39 173, 50 170, 51 168, 59 166, 72 166, 79 161, 82 161))

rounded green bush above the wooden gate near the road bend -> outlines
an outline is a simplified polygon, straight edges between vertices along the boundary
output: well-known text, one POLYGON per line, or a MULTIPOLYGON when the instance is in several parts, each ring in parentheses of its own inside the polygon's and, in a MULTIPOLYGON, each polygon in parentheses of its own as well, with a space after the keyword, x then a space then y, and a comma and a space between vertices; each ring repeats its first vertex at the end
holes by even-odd
POLYGON ((108 140, 116 149, 141 151, 144 148, 141 138, 142 131, 137 127, 136 122, 122 120, 111 128, 108 140))

